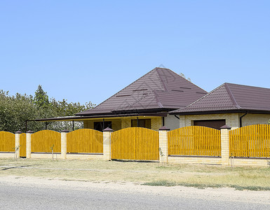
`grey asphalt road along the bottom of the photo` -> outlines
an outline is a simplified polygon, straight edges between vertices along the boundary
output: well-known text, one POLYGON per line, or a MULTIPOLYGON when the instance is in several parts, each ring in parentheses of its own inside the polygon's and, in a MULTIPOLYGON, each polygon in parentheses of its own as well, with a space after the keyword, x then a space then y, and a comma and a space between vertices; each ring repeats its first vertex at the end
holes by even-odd
MULTIPOLYGON (((153 188, 154 189, 154 188, 153 188)), ((269 204, 0 183, 0 209, 270 209, 269 204)))

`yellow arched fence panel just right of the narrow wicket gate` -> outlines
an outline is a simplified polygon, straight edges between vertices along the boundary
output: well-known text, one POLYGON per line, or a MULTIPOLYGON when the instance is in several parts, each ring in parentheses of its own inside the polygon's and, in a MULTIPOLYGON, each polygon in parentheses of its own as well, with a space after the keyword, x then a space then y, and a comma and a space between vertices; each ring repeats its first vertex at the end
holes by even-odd
POLYGON ((61 153, 61 134, 53 130, 41 130, 31 135, 32 153, 61 153))

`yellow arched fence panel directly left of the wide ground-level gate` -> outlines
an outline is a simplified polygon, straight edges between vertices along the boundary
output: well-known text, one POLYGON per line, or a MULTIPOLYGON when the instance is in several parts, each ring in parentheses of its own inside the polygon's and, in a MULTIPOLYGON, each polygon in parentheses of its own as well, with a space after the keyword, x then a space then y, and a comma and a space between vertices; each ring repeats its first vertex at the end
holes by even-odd
POLYGON ((92 129, 69 132, 67 153, 103 153, 103 133, 92 129))

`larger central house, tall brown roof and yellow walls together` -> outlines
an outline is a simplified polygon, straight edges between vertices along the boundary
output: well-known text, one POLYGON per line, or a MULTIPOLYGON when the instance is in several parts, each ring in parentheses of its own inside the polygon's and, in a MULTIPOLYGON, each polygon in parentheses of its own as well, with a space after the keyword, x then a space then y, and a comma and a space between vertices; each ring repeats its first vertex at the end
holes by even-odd
POLYGON ((155 68, 95 108, 76 113, 73 118, 83 120, 85 128, 100 131, 106 127, 158 130, 163 125, 173 130, 179 128, 179 118, 168 112, 184 108, 205 94, 201 87, 174 71, 155 68))

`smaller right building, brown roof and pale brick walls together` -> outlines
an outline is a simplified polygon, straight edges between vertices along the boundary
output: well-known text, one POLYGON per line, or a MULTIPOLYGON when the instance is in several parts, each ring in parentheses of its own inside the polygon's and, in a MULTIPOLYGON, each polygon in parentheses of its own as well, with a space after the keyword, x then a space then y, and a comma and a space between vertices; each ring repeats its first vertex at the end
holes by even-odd
POLYGON ((201 125, 220 129, 267 124, 270 119, 270 89, 224 83, 182 109, 180 127, 201 125))

